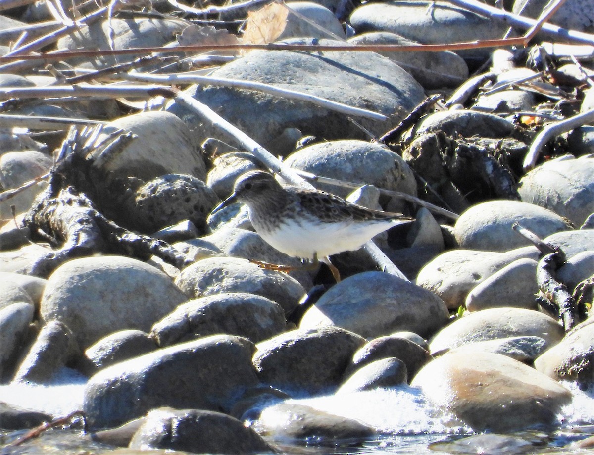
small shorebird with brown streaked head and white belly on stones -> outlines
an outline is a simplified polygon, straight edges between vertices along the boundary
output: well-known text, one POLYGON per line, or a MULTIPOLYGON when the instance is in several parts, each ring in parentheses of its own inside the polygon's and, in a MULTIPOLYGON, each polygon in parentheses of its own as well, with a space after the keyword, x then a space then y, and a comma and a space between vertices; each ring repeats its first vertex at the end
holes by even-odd
POLYGON ((359 249, 378 233, 412 221, 400 213, 351 204, 324 191, 281 185, 262 170, 239 176, 233 194, 212 213, 236 201, 248 206, 249 219, 264 241, 314 264, 318 258, 359 249))

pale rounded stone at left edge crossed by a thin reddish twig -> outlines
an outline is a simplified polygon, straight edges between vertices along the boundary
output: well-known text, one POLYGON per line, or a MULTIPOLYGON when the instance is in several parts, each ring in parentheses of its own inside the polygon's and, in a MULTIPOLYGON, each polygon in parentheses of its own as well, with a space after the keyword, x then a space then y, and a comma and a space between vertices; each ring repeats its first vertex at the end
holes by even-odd
MULTIPOLYGON (((11 151, 0 155, 0 187, 18 188, 52 168, 52 159, 36 150, 11 151)), ((17 213, 29 210, 33 200, 47 186, 39 182, 14 197, 0 203, 0 219, 12 219, 10 206, 15 206, 17 213)))

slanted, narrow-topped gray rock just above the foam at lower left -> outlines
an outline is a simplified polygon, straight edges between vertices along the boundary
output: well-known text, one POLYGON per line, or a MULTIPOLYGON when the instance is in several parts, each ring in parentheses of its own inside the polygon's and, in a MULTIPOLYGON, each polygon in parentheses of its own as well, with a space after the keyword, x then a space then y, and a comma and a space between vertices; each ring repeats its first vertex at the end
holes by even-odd
POLYGON ((39 331, 14 378, 30 383, 50 383, 56 372, 78 361, 81 350, 74 334, 59 321, 49 321, 39 331))

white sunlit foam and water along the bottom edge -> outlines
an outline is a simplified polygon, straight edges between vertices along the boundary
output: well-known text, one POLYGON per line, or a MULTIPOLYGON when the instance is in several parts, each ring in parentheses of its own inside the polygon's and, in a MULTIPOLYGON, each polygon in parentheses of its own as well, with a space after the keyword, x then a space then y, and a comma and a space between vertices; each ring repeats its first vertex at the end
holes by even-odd
MULTIPOLYGON (((378 389, 365 392, 314 397, 293 402, 315 407, 373 426, 383 435, 364 444, 282 444, 284 453, 307 455, 440 455, 484 453, 512 455, 525 453, 580 453, 564 448, 571 441, 594 435, 594 391, 581 391, 564 383, 574 394, 563 408, 553 431, 525 431, 507 435, 473 435, 472 429, 453 416, 434 409, 413 388, 378 389), (469 437, 472 435, 472 437, 469 437), (502 445, 503 444, 503 445, 502 445)), ((68 415, 82 409, 84 378, 65 371, 51 386, 10 384, 0 386, 0 401, 52 415, 68 415)), ((0 434, 0 447, 23 432, 0 434)), ((113 447, 93 443, 79 429, 52 429, 19 447, 0 449, 5 454, 109 454, 113 447)), ((587 453, 583 451, 583 453, 587 453)), ((589 453, 592 453, 591 451, 589 453)))

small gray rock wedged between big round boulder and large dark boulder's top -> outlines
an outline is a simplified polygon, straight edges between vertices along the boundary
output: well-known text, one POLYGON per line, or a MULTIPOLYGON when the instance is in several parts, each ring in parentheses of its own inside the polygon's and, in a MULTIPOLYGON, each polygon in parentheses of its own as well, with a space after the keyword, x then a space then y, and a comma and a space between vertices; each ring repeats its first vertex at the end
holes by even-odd
POLYGON ((102 369, 156 349, 155 340, 142 330, 120 330, 89 346, 84 355, 102 369))

